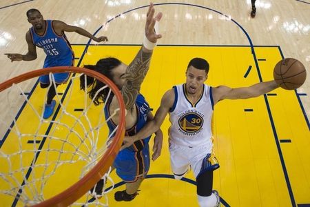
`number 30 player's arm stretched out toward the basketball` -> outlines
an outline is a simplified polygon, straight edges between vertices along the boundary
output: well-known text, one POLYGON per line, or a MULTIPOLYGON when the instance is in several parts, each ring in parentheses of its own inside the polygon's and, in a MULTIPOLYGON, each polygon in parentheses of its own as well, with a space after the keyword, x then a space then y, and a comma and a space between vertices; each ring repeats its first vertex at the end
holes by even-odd
POLYGON ((212 89, 214 104, 223 99, 249 99, 258 97, 271 90, 278 88, 276 81, 267 81, 256 83, 253 86, 242 88, 229 88, 227 86, 218 86, 212 89))

